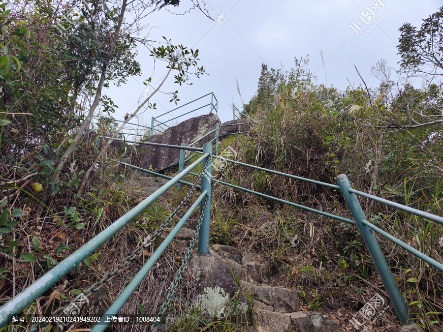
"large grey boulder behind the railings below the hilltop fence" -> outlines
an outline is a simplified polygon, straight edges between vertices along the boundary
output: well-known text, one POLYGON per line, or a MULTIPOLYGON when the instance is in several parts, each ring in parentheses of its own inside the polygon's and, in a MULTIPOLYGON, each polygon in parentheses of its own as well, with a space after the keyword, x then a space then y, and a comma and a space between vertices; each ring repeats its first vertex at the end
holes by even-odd
MULTIPOLYGON (((153 135, 149 138, 150 143, 161 143, 169 145, 189 145, 220 124, 220 119, 216 114, 206 114, 191 118, 166 129, 164 132, 153 135)), ((209 142, 214 135, 208 135, 199 142, 200 146, 209 142)), ((126 163, 160 172, 166 168, 178 164, 180 150, 171 148, 161 148, 145 144, 137 144, 131 147, 126 158, 121 160, 126 163)))

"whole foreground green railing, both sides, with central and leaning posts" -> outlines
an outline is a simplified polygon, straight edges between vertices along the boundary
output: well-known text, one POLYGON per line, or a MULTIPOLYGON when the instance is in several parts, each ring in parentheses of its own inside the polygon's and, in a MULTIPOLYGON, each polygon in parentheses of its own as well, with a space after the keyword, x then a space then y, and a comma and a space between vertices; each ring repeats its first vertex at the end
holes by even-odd
MULTIPOLYGON (((238 124, 236 124, 238 125, 238 124)), ((210 133, 213 133, 214 131, 218 131, 218 128, 212 130, 210 133)), ((206 134, 205 136, 209 135, 210 133, 206 134)), ((216 138, 218 136, 216 135, 216 138)), ((213 140, 215 140, 214 138, 213 140)), ((93 240, 86 243, 83 247, 78 249, 76 252, 65 258, 61 263, 59 263, 55 268, 44 274, 42 277, 37 279, 32 285, 27 287, 24 291, 22 291, 19 295, 17 295, 15 298, 4 304, 0 307, 0 327, 4 326, 7 323, 7 314, 17 314, 21 311, 23 311, 28 305, 32 303, 36 298, 38 298, 41 294, 43 294, 46 290, 48 290, 52 285, 54 285, 58 280, 60 280, 64 275, 66 275, 70 270, 75 268, 83 259, 88 257, 92 252, 94 252, 101 244, 103 244, 105 241, 107 241, 109 238, 111 238, 114 234, 116 234, 120 229, 122 229, 127 223, 132 220, 135 216, 137 216, 140 212, 144 211, 149 205, 151 205, 155 200, 157 200, 163 193, 165 193, 168 189, 170 189, 175 184, 185 184, 188 186, 191 186, 191 188, 199 188, 201 195, 200 197, 195 201, 195 203, 192 205, 190 210, 186 212, 184 217, 179 221, 179 223, 176 225, 174 230, 168 235, 168 237, 163 241, 156 252, 152 255, 152 257, 145 263, 143 268, 137 272, 136 276, 131 280, 131 282, 127 285, 127 288, 120 294, 120 296, 116 299, 116 301, 111 304, 111 306, 108 308, 105 314, 110 315, 116 315, 118 311, 122 308, 124 303, 127 301, 129 296, 134 292, 135 288, 140 284, 140 282, 143 280, 143 278, 147 275, 147 273, 150 271, 152 266, 155 264, 155 262, 160 257, 161 253, 166 249, 167 245, 172 241, 172 239, 175 237, 177 232, 180 230, 180 228, 184 225, 186 220, 189 218, 192 211, 194 211, 197 206, 200 206, 200 219, 201 219, 201 225, 199 223, 199 227, 197 228, 198 231, 198 253, 199 254, 208 254, 209 253, 209 220, 210 220, 210 209, 205 209, 206 206, 210 207, 211 204, 211 184, 212 182, 220 183, 222 185, 230 186, 232 188, 242 190, 251 194, 255 194, 267 199, 271 199, 280 203, 284 203, 290 206, 293 206, 295 208, 303 209, 305 211, 310 211, 328 218, 332 218, 335 220, 339 220, 342 222, 346 222, 348 224, 354 225, 358 227, 358 230, 360 231, 363 240, 368 247, 368 251, 375 263, 375 266, 377 268, 377 271, 380 274, 380 277, 382 279, 382 282, 384 284, 384 287, 386 289, 386 292, 389 296, 389 299, 391 303, 394 306, 394 309, 396 311, 397 317, 402 325, 411 324, 412 318, 409 315, 408 311, 408 305, 405 302, 405 299, 403 298, 400 289, 395 281, 394 276, 392 275, 392 272, 389 269, 389 266, 386 262, 386 259, 380 249, 380 245, 377 241, 377 238, 375 237, 374 232, 377 232, 381 236, 385 237, 389 241, 394 242, 395 244, 401 246, 405 250, 409 251, 419 259, 425 261, 430 266, 438 269, 439 271, 443 272, 443 264, 434 260, 433 258, 425 255, 424 253, 418 251, 417 249, 411 247, 407 243, 395 238, 394 236, 388 234, 387 232, 381 230, 379 227, 371 224, 368 222, 358 200, 357 195, 374 200, 376 202, 388 205, 390 207, 399 209, 401 211, 405 211, 408 213, 411 213, 413 215, 419 216, 421 218, 436 222, 438 224, 443 225, 443 217, 434 215, 428 212, 420 211, 417 209, 413 209, 411 207, 398 204, 395 202, 391 202, 386 199, 382 199, 380 197, 370 195, 358 190, 355 190, 351 187, 348 178, 346 175, 340 175, 337 177, 337 184, 331 184, 331 183, 325 183, 321 181, 306 179, 298 176, 294 176, 291 174, 286 174, 274 170, 269 170, 266 168, 262 168, 255 165, 250 165, 246 163, 242 163, 239 161, 235 161, 232 159, 224 158, 223 156, 213 156, 212 151, 212 144, 206 143, 203 146, 203 149, 201 148, 195 148, 191 147, 191 145, 196 144, 197 142, 201 141, 202 138, 199 140, 191 143, 189 146, 172 146, 172 145, 165 145, 165 144, 158 144, 158 143, 149 143, 149 142, 137 142, 137 143, 143 143, 147 145, 152 146, 160 146, 165 148, 174 148, 174 149, 180 149, 180 164, 179 164, 179 174, 174 177, 170 178, 165 175, 161 175, 157 172, 153 172, 150 170, 145 170, 140 167, 136 167, 134 165, 130 165, 127 163, 120 162, 121 164, 131 167, 137 170, 141 170, 143 172, 160 176, 166 179, 170 179, 169 182, 167 182, 163 187, 159 188, 154 194, 146 198, 142 203, 137 205, 134 209, 129 211, 127 214, 119 218, 117 221, 115 221, 113 224, 111 224, 108 228, 106 228, 104 231, 102 231, 100 234, 98 234, 93 240), (202 154, 201 157, 197 158, 190 166, 187 168, 184 168, 185 164, 185 151, 192 151, 195 153, 202 154), (353 216, 353 220, 335 215, 332 213, 316 210, 313 208, 309 208, 303 205, 299 205, 290 201, 286 201, 277 197, 273 197, 270 195, 266 195, 251 189, 243 188, 241 186, 237 186, 231 183, 227 183, 224 181, 220 181, 214 178, 212 173, 212 162, 214 162, 214 165, 217 165, 218 161, 226 162, 226 163, 232 163, 240 166, 250 167, 259 171, 263 171, 270 174, 275 174, 279 176, 284 176, 296 181, 304 181, 315 185, 321 185, 333 190, 340 190, 345 198, 346 203, 348 204, 349 210, 353 216), (193 173, 192 170, 201 163, 202 165, 202 173, 196 174, 193 173), (206 165, 206 166, 205 166, 206 165), (196 183, 192 184, 187 181, 183 181, 182 179, 186 175, 194 175, 198 176, 199 179, 201 179, 201 186, 198 187, 196 183), (204 202, 204 200, 206 200, 204 202), (204 203, 204 204, 203 204, 204 203)), ((188 158, 189 159, 189 158, 188 158)), ((165 227, 165 226, 164 226, 165 227)), ((161 228, 161 227, 160 227, 161 228)), ((157 231, 156 233, 157 234, 157 231)), ((189 255, 188 255, 189 258, 189 255)), ((180 271, 180 270, 179 270, 180 271)), ((176 282, 177 277, 174 282, 176 282)), ((174 286, 171 286, 171 292, 174 290, 174 286)), ((171 293, 170 292, 170 293, 171 293)), ((170 299, 172 295, 168 294, 167 299, 170 299)), ((164 313, 165 311, 165 303, 163 303, 161 312, 164 313)), ((106 325, 96 325, 93 332, 97 331, 104 331, 106 325)))

